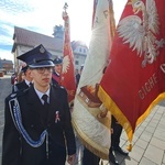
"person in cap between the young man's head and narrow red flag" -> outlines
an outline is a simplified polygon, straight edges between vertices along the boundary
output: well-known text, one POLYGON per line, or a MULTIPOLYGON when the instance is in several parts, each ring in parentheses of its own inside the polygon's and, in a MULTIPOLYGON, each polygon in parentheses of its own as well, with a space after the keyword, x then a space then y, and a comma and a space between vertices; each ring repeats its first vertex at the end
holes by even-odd
POLYGON ((52 74, 52 82, 54 85, 59 85, 61 74, 63 69, 63 59, 56 57, 53 62, 55 66, 54 66, 54 72, 52 74))

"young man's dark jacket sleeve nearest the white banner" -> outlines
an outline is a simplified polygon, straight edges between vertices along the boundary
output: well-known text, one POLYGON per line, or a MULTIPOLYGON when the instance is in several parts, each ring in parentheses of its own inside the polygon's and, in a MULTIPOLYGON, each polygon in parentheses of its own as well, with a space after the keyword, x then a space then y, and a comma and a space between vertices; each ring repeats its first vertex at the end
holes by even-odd
POLYGON ((68 106, 67 92, 65 94, 65 138, 67 144, 68 155, 73 155, 76 153, 76 140, 74 134, 74 129, 72 124, 70 110, 68 106))

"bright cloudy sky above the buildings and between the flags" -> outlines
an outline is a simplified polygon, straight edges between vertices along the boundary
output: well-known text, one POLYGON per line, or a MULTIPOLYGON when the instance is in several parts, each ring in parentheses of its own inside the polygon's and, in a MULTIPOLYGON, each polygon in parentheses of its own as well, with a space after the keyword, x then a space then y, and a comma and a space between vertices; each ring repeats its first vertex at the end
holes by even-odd
MULTIPOLYGON (((117 22, 128 0, 113 0, 117 22)), ((0 57, 12 59, 14 25, 53 36, 53 28, 64 24, 63 7, 68 3, 72 41, 89 43, 94 0, 0 0, 0 57)))

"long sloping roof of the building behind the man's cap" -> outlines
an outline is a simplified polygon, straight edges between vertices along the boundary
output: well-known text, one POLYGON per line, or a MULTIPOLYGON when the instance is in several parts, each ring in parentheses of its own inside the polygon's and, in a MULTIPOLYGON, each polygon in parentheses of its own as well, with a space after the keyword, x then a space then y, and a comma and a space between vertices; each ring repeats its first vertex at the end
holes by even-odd
POLYGON ((12 53, 15 51, 16 45, 23 45, 33 47, 43 44, 50 51, 62 52, 63 51, 63 40, 52 36, 47 36, 41 33, 29 31, 22 28, 14 26, 13 34, 14 44, 12 47, 12 53))

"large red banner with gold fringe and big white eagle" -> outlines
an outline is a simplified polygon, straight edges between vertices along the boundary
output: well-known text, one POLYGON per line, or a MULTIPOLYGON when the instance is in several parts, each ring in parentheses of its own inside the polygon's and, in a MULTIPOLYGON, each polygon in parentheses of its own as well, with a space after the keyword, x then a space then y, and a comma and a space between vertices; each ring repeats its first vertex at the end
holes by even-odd
MULTIPOLYGON (((98 96, 129 141, 165 99, 165 0, 129 0, 117 26, 98 96)), ((131 145, 130 145, 131 150, 131 145)))

